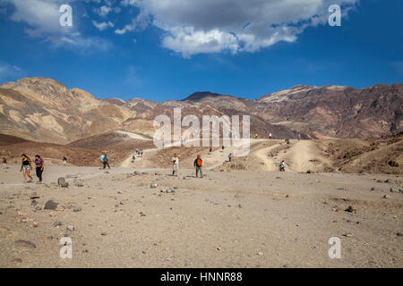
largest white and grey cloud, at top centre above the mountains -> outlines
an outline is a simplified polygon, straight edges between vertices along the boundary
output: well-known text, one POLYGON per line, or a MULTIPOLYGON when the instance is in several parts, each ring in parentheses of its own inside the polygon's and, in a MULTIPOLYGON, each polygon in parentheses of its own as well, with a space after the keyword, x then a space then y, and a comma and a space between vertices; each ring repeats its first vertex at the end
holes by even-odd
MULTIPOLYGON (((344 15, 359 0, 333 0, 344 15)), ((200 53, 254 52, 294 42, 307 27, 327 22, 325 0, 123 0, 166 32, 162 45, 190 57, 200 53)), ((144 16, 143 16, 144 17, 144 16)), ((134 20, 135 21, 135 20, 134 20)), ((125 29, 124 32, 133 29, 125 29)))

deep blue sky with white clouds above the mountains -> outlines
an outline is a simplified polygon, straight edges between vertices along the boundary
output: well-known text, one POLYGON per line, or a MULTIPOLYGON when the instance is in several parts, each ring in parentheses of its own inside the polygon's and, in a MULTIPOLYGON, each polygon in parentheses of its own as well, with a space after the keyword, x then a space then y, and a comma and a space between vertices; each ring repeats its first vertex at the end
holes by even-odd
POLYGON ((156 101, 403 82, 403 1, 290 2, 0 0, 0 82, 46 77, 156 101), (73 8, 71 28, 58 23, 61 4, 73 8), (330 4, 341 27, 328 24, 330 4))

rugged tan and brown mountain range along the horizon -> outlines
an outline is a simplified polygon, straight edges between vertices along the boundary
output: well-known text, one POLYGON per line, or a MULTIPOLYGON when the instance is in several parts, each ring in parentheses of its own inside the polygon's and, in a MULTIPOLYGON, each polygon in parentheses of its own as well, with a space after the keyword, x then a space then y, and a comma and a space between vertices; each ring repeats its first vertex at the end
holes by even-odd
POLYGON ((276 139, 376 138, 403 130, 403 84, 296 86, 256 100, 196 92, 181 101, 97 99, 56 80, 25 78, 0 85, 0 133, 68 144, 113 130, 152 137, 159 114, 251 115, 251 134, 276 139))

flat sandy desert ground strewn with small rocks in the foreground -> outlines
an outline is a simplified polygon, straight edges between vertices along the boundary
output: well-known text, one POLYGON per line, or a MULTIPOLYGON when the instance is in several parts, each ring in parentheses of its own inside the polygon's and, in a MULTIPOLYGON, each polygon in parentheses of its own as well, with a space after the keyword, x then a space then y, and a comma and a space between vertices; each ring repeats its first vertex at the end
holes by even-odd
POLYGON ((37 185, 11 165, 0 172, 0 267, 403 266, 401 175, 170 173, 47 166, 37 185), (50 199, 56 210, 43 209, 50 199), (59 256, 64 236, 72 259, 59 256))

